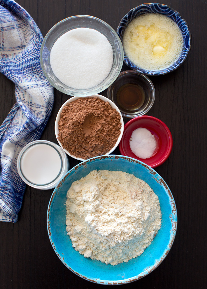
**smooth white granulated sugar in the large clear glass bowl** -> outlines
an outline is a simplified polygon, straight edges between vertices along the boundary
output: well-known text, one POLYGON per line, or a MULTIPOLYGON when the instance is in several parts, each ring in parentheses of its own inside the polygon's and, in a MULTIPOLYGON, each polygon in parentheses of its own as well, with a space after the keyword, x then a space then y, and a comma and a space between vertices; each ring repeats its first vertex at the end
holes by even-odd
POLYGON ((97 30, 76 28, 54 43, 50 65, 65 85, 75 89, 92 88, 108 76, 113 65, 113 49, 97 30))

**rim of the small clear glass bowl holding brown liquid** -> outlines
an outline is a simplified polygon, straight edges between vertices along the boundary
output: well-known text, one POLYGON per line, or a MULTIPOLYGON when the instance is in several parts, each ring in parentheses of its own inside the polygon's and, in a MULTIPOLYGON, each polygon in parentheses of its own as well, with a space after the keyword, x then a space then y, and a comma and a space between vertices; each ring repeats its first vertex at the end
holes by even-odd
MULTIPOLYGON (((127 113, 124 113, 124 112, 121 112, 122 116, 124 117, 127 117, 127 118, 135 118, 137 116, 142 116, 144 114, 146 114, 151 108, 152 108, 152 105, 154 104, 155 102, 155 87, 154 87, 154 84, 152 83, 152 81, 149 79, 149 77, 143 73, 140 73, 138 71, 135 71, 135 70, 124 70, 122 72, 120 72, 120 74, 117 76, 117 78, 115 79, 115 81, 108 87, 108 90, 107 90, 107 96, 110 100, 112 100, 112 97, 111 97, 111 90, 114 86, 114 83, 116 81, 119 80, 119 78, 125 74, 135 74, 135 75, 138 75, 142 78, 144 78, 146 80, 146 82, 149 83, 149 86, 152 88, 152 101, 150 102, 150 105, 147 109, 144 110, 144 112, 142 114, 138 114, 138 115, 130 115, 130 114, 127 114, 127 113)), ((112 100, 113 101, 113 100, 112 100)))

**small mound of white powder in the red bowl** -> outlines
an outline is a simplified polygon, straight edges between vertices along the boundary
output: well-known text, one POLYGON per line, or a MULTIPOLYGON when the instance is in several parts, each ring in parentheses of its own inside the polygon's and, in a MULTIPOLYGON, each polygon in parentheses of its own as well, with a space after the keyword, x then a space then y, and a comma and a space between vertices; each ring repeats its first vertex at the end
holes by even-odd
POLYGON ((157 142, 148 129, 137 128, 131 134, 129 145, 138 158, 148 159, 154 154, 157 142))

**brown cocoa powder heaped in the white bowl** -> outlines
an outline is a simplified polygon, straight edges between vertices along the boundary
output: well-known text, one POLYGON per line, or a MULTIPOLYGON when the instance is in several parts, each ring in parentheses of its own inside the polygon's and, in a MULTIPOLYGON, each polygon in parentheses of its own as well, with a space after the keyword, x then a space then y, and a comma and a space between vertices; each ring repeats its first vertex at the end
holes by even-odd
POLYGON ((78 98, 63 107, 58 139, 64 149, 81 159, 108 153, 120 135, 120 114, 97 97, 78 98))

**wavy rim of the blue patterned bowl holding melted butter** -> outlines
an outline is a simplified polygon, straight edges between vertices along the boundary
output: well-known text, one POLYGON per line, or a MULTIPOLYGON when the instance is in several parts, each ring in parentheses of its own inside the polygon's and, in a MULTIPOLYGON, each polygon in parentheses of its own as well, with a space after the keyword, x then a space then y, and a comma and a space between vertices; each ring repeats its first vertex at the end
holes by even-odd
MULTIPOLYGON (((173 8, 171 8, 169 5, 160 4, 160 3, 158 3, 158 2, 152 2, 152 3, 141 4, 141 5, 137 6, 137 7, 134 7, 134 8, 132 8, 131 10, 129 10, 129 11, 127 12, 127 14, 124 15, 124 17, 122 17, 122 19, 121 19, 121 21, 120 21, 120 23, 119 23, 119 25, 118 25, 118 27, 117 27, 117 30, 116 30, 116 32, 117 32, 117 34, 119 35, 121 41, 122 41, 122 36, 119 34, 119 29, 120 29, 120 27, 122 26, 122 22, 125 20, 125 18, 126 18, 133 10, 136 10, 136 9, 138 9, 138 8, 141 8, 141 7, 147 6, 147 5, 148 5, 149 7, 151 7, 151 6, 154 5, 154 4, 157 4, 159 7, 163 7, 163 6, 164 6, 164 7, 167 7, 167 8, 169 8, 169 9, 171 9, 174 13, 176 13, 176 15, 178 15, 178 16, 183 20, 183 22, 185 22, 185 25, 186 25, 186 27, 187 27, 187 29, 188 29, 187 35, 189 36, 189 41, 188 41, 188 43, 189 43, 189 48, 188 48, 187 51, 185 52, 185 56, 183 57, 183 59, 182 59, 182 61, 179 63, 179 65, 177 65, 176 67, 172 67, 172 68, 170 68, 172 65, 170 65, 170 66, 168 66, 168 67, 165 67, 165 68, 163 68, 163 69, 167 69, 167 68, 170 68, 170 69, 167 70, 167 71, 164 71, 164 72, 162 71, 163 69, 150 70, 150 69, 140 68, 140 67, 138 67, 137 65, 135 65, 133 62, 131 62, 131 60, 127 57, 127 55, 126 55, 125 52, 124 52, 124 63, 125 63, 127 66, 129 66, 131 69, 134 69, 135 71, 137 71, 137 72, 139 72, 139 73, 141 73, 141 74, 146 74, 146 75, 149 75, 149 76, 164 75, 164 74, 168 74, 168 73, 170 73, 170 72, 178 69, 178 67, 180 67, 180 65, 183 64, 183 62, 185 62, 185 60, 187 59, 187 56, 188 56, 188 54, 189 54, 189 52, 190 52, 190 50, 191 50, 191 40, 192 40, 192 35, 191 35, 191 32, 190 32, 189 26, 188 26, 188 24, 187 24, 187 21, 182 17, 182 15, 181 15, 178 11, 176 11, 176 10, 173 9, 173 8), (130 64, 126 61, 126 59, 129 60, 132 65, 130 65, 130 64)), ((159 13, 159 12, 157 12, 157 13, 158 13, 158 14, 162 14, 162 13, 159 13)), ((162 14, 162 15, 163 15, 163 14, 162 14)), ((134 19, 134 18, 133 18, 133 19, 134 19)), ((124 21, 124 22, 126 22, 126 21, 124 21)), ((182 54, 182 53, 181 53, 181 54, 182 54)))

